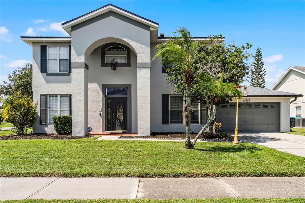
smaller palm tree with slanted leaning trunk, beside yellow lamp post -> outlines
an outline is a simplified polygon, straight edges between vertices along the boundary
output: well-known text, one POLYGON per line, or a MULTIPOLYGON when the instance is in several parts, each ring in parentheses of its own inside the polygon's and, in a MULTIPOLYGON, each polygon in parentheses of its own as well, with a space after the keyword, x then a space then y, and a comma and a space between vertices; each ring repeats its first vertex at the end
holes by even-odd
POLYGON ((204 127, 195 137, 192 143, 192 147, 195 146, 199 136, 202 135, 203 132, 206 130, 206 128, 214 121, 218 105, 221 105, 228 101, 229 92, 231 92, 232 93, 231 95, 234 95, 235 97, 238 98, 242 97, 242 92, 236 88, 236 84, 223 82, 224 73, 219 74, 219 79, 214 79, 206 73, 200 73, 198 77, 200 81, 199 86, 200 89, 203 91, 203 95, 209 95, 209 97, 213 98, 213 103, 215 105, 215 108, 208 122, 204 125, 204 127))

